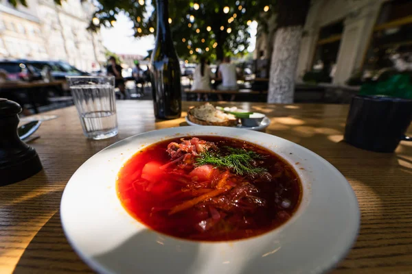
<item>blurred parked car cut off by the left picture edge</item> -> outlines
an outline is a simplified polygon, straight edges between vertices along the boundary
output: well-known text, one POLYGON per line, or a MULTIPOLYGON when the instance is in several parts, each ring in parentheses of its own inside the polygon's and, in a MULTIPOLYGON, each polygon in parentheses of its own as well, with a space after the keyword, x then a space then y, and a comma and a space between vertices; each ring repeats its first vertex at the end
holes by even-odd
POLYGON ((9 80, 34 81, 41 79, 41 73, 38 69, 21 60, 0 60, 0 70, 7 72, 9 80))

